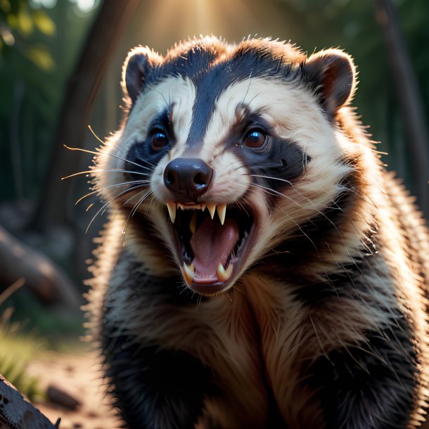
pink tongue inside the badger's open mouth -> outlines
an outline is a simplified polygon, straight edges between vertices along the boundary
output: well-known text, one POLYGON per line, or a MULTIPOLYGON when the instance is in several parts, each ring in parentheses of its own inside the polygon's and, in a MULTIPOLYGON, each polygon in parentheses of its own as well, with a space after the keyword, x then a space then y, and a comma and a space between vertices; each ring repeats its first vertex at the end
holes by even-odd
POLYGON ((219 219, 206 217, 191 238, 196 283, 217 281, 219 262, 225 267, 229 255, 238 241, 238 228, 233 219, 225 219, 223 225, 219 219))

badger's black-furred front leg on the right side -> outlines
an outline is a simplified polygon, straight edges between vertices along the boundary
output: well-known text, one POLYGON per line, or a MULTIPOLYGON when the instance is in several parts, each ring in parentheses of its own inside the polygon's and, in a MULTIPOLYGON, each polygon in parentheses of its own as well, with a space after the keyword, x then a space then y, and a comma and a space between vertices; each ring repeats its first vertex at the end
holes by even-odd
POLYGON ((418 363, 404 319, 319 358, 312 383, 327 429, 414 428, 418 363))

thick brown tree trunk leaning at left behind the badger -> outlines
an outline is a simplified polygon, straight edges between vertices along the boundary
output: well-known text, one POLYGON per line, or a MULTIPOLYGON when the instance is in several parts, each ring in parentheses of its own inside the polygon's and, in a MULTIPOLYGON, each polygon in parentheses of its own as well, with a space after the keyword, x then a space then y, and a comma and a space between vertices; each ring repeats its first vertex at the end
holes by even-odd
POLYGON ((70 181, 60 181, 70 171, 77 171, 79 157, 63 148, 81 147, 87 131, 91 105, 96 98, 108 61, 132 18, 139 0, 105 0, 89 30, 75 71, 70 76, 58 128, 53 138, 53 155, 32 226, 44 229, 49 224, 65 224, 70 181))

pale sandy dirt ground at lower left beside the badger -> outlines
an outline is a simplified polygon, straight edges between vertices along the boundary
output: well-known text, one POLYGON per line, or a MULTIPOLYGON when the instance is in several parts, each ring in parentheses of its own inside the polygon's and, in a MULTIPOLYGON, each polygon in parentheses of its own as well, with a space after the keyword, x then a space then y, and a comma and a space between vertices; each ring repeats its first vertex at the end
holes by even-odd
POLYGON ((61 418, 59 429, 121 427, 120 421, 115 418, 109 405, 108 397, 105 397, 103 392, 95 354, 87 353, 84 356, 44 354, 41 359, 31 362, 28 373, 39 379, 41 390, 46 391, 50 385, 53 386, 51 389, 53 397, 64 404, 53 404, 49 400, 33 402, 53 424, 61 418), (73 405, 72 399, 80 402, 76 409, 70 409, 73 405))

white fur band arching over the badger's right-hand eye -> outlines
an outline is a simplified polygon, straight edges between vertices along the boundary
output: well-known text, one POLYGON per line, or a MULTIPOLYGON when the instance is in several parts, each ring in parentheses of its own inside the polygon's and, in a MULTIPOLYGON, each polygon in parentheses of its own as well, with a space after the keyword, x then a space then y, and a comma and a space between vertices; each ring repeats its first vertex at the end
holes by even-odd
MULTIPOLYGON (((330 124, 309 91, 276 79, 252 78, 231 85, 219 97, 205 134, 203 159, 210 159, 214 146, 225 139, 242 103, 260 111, 279 136, 293 139, 310 156, 326 156, 327 137, 335 141, 330 124)), ((332 149, 340 155, 338 148, 332 149)), ((337 158, 335 153, 329 156, 337 158)))

